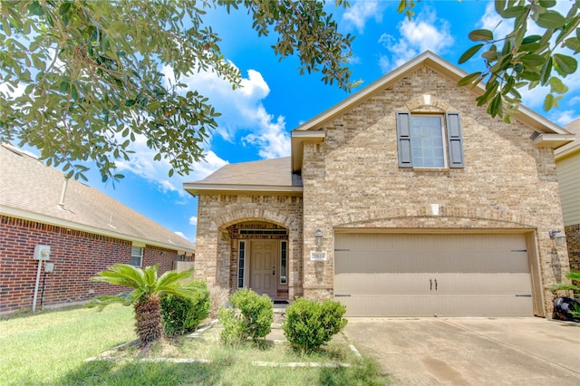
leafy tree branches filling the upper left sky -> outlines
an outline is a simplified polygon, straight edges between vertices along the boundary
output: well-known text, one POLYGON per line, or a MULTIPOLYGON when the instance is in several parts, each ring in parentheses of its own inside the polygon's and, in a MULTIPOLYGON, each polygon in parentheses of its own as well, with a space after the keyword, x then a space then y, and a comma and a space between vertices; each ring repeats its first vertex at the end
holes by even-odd
MULTIPOLYGON (((342 0, 335 0, 343 5, 342 0)), ((323 3, 309 0, 2 0, 0 140, 18 140, 86 179, 93 160, 102 179, 120 179, 115 161, 131 158, 144 138, 169 177, 203 158, 203 141, 219 112, 198 91, 168 84, 215 72, 240 86, 241 75, 219 48, 203 17, 208 9, 246 8, 257 34, 275 32, 280 59, 296 55, 299 70, 322 72, 326 83, 352 87, 346 67, 353 37, 337 32, 323 3), (5 92, 2 92, 4 90, 5 92)))

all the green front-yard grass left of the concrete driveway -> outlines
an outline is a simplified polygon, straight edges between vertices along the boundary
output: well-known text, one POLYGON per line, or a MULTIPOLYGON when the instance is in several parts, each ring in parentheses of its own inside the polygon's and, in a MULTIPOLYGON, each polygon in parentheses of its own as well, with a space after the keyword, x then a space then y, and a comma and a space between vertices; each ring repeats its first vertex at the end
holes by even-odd
POLYGON ((287 343, 227 346, 219 328, 205 339, 181 337, 148 352, 129 346, 115 361, 84 362, 135 338, 131 307, 101 313, 72 309, 0 320, 0 384, 83 385, 383 385, 376 362, 359 359, 343 336, 320 352, 302 354, 287 343), (197 358, 209 363, 143 362, 143 358, 197 358), (254 362, 345 362, 349 368, 257 367, 254 362))

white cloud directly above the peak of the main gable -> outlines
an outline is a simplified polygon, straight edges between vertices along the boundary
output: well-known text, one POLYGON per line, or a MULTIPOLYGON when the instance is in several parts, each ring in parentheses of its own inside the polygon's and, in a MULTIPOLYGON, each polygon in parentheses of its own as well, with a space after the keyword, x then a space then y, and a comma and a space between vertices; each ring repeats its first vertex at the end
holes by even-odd
POLYGON ((389 72, 427 50, 445 53, 454 44, 449 22, 438 18, 435 11, 428 7, 411 21, 405 19, 400 22, 397 28, 400 37, 382 34, 379 39, 379 43, 389 52, 379 58, 382 72, 389 72))

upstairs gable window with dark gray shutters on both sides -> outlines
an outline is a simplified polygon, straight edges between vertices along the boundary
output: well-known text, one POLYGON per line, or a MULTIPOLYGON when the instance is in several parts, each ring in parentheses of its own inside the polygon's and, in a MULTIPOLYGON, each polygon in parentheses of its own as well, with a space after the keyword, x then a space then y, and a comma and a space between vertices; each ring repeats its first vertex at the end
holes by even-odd
POLYGON ((463 168, 459 113, 397 113, 399 166, 417 169, 463 168))

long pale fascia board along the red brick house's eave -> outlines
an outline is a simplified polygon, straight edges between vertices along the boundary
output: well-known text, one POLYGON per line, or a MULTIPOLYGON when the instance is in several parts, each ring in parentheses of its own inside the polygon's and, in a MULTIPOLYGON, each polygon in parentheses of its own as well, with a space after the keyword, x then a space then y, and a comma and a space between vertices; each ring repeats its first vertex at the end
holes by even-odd
MULTIPOLYGON (((109 229, 86 226, 83 224, 75 223, 73 221, 66 221, 66 220, 63 220, 60 218, 45 216, 45 215, 41 215, 39 213, 29 212, 27 210, 18 209, 15 207, 6 207, 4 205, 0 205, 0 214, 5 215, 5 216, 10 216, 10 217, 24 218, 26 220, 36 221, 36 222, 43 223, 43 224, 49 224, 49 225, 53 225, 56 227, 65 227, 65 228, 80 230, 82 232, 96 234, 96 235, 109 236, 112 238, 118 238, 120 240, 127 240, 127 241, 131 241, 131 242, 148 244, 150 246, 161 246, 164 248, 174 249, 174 250, 178 250, 178 249, 183 250, 184 249, 183 246, 177 246, 176 244, 174 244, 170 240, 168 240, 167 244, 161 243, 160 241, 157 241, 157 240, 149 240, 149 239, 145 239, 142 237, 125 235, 125 234, 115 232, 115 231, 109 230, 109 229)), ((188 252, 195 252, 195 250, 193 250, 193 249, 187 249, 187 251, 188 252)))

